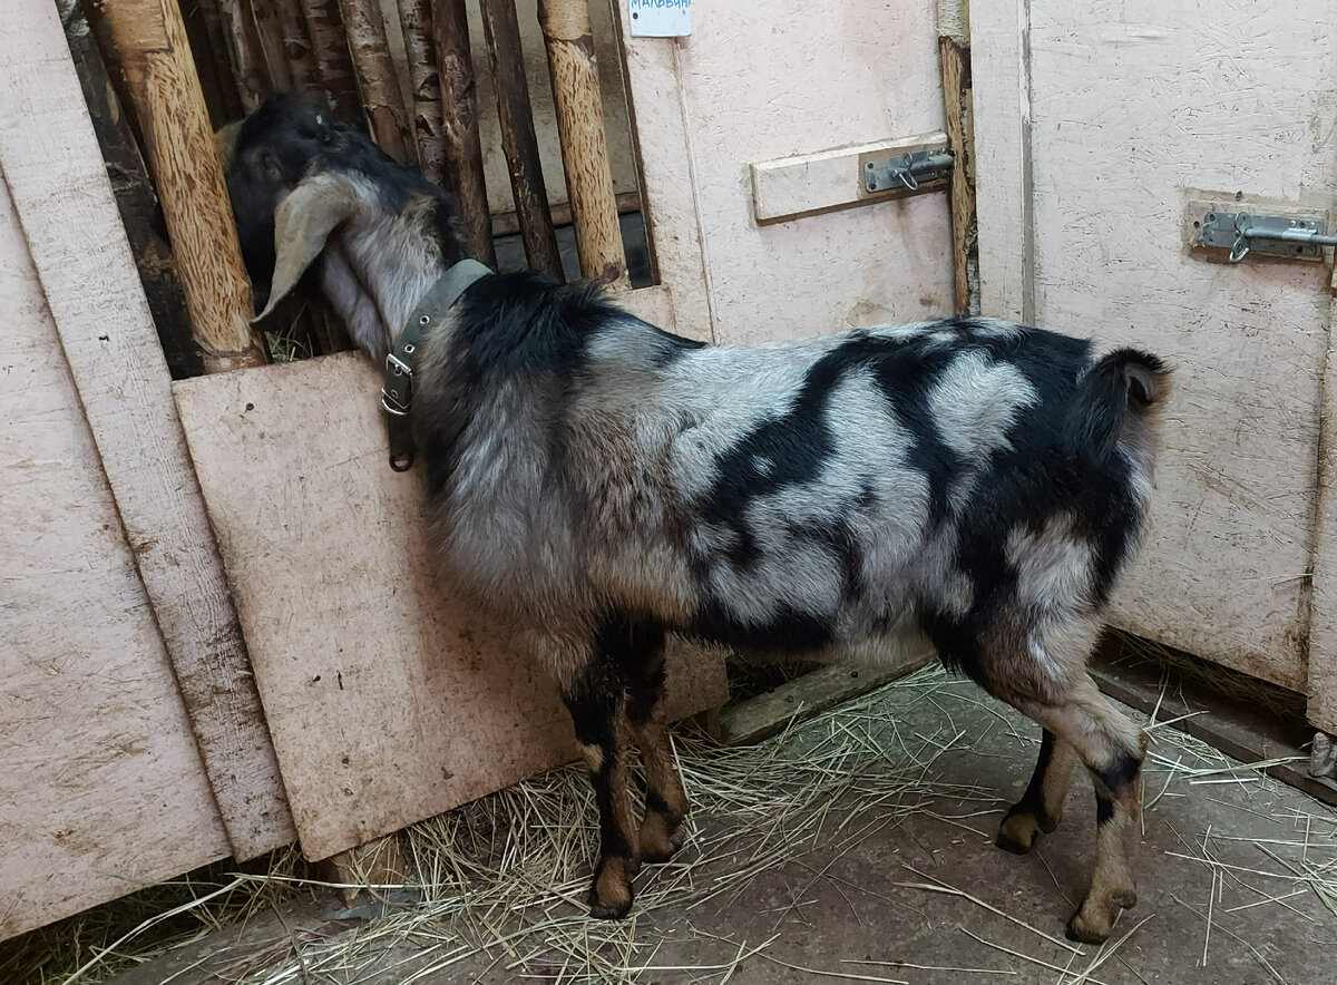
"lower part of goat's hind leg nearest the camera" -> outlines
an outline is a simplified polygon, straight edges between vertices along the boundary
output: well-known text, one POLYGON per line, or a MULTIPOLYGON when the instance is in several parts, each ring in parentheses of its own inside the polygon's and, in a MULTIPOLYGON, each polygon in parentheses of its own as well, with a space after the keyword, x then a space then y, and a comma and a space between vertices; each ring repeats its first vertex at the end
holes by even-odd
POLYGON ((1146 736, 1086 675, 1062 700, 1017 702, 1017 707, 1054 732, 1055 742, 1070 743, 1091 772, 1096 798, 1095 867, 1091 889, 1068 921, 1068 937, 1099 944, 1110 936, 1119 910, 1138 902, 1131 857, 1142 819, 1146 736))

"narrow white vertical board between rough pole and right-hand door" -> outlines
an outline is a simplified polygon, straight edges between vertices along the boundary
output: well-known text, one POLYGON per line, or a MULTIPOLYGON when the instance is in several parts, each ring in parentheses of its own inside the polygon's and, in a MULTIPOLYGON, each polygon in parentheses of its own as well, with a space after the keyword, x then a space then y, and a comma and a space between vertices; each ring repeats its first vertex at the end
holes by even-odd
POLYGON ((1029 3, 979 0, 969 5, 980 311, 1023 322, 1035 317, 1029 3))

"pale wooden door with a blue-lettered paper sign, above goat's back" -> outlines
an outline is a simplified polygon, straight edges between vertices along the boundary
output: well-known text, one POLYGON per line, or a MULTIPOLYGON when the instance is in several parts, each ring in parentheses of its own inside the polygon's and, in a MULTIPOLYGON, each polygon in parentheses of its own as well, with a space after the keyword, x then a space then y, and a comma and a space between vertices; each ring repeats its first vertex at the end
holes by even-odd
POLYGON ((861 148, 945 143, 932 0, 695 4, 679 39, 631 36, 612 3, 678 331, 754 342, 951 314, 947 195, 857 190, 861 148))

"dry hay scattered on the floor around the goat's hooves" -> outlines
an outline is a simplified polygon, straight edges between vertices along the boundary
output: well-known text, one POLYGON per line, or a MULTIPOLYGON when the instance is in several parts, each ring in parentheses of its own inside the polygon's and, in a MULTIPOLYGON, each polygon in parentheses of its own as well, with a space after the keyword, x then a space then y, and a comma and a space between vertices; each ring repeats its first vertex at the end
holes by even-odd
MULTIPOLYGON (((445 981, 452 969, 467 968, 471 977, 496 981, 636 982, 677 973, 727 982, 743 962, 771 962, 777 969, 822 980, 877 982, 924 981, 928 972, 961 980, 985 973, 1029 974, 989 966, 991 953, 1000 961, 1005 954, 1025 962, 1036 974, 1058 976, 1060 985, 1106 985, 1116 978, 1111 973, 1115 965, 1136 976, 1126 957, 1127 942, 1136 940, 1134 936, 1154 914, 1139 913, 1140 922, 1122 922, 1104 946, 1082 949, 1056 937, 1056 928, 1032 926, 1008 913, 1005 903, 973 895, 969 890, 980 891, 975 886, 953 886, 908 867, 900 877, 888 873, 898 878, 901 898, 878 899, 908 910, 915 909, 916 894, 959 899, 963 944, 972 938, 983 948, 967 945, 973 949, 971 964, 979 960, 977 968, 963 962, 948 970, 853 960, 809 968, 782 961, 774 953, 771 945, 782 924, 806 905, 808 889, 818 881, 840 886, 829 873, 832 862, 809 858, 818 849, 829 853, 838 845, 842 857, 912 815, 992 839, 1000 791, 996 786, 948 783, 937 764, 939 756, 949 751, 965 754, 976 746, 981 714, 992 722, 995 736, 1007 734, 1027 746, 1036 743, 1032 728, 969 684, 951 680, 936 666, 793 724, 757 746, 719 748, 695 732, 675 735, 693 802, 689 846, 679 859, 646 869, 638 877, 636 907, 631 918, 620 922, 592 922, 584 916, 598 834, 584 770, 568 767, 535 777, 401 834, 416 893, 413 902, 389 906, 386 916, 353 930, 305 940, 295 950, 285 944, 265 958, 263 966, 254 961, 238 965, 231 980, 237 985, 305 985, 374 978, 413 985, 428 978, 445 981), (932 734, 913 731, 904 715, 889 714, 892 707, 904 710, 917 702, 939 712, 940 724, 932 734), (963 711, 971 720, 956 720, 963 711), (787 866, 790 873, 810 873, 810 882, 797 886, 794 902, 775 913, 770 933, 758 940, 734 940, 707 929, 714 906, 749 906, 754 881, 779 866, 787 866), (656 920, 667 907, 674 920, 656 920), (1019 925, 1017 933, 1001 937, 996 928, 985 928, 977 934, 967 926, 972 914, 984 920, 985 913, 1019 925), (671 937, 656 926, 670 922, 671 937), (675 964, 674 957, 682 956, 693 956, 699 964, 675 964), (480 969, 485 972, 480 974, 480 969)), ((1155 715, 1146 727, 1152 739, 1143 787, 1148 809, 1166 797, 1191 791, 1210 798, 1222 789, 1231 795, 1242 793, 1247 805, 1274 783, 1261 772, 1266 763, 1241 764, 1155 715)), ((988 755, 977 748, 973 754, 988 755)), ((1203 936, 1194 945, 1198 964, 1219 960, 1222 942, 1229 941, 1247 949, 1271 980, 1284 981, 1263 953, 1266 945, 1254 946, 1237 933, 1245 926, 1242 921, 1261 906, 1286 907, 1300 914, 1297 918, 1313 920, 1301 909, 1310 895, 1337 917, 1337 818, 1318 805, 1314 809, 1313 814, 1296 809, 1293 817, 1275 818, 1261 805, 1261 815, 1280 822, 1273 829, 1277 837, 1250 839, 1247 845, 1226 831, 1179 833, 1179 845, 1167 853, 1173 857, 1167 861, 1198 866, 1205 875, 1202 898, 1175 898, 1175 905, 1202 924, 1203 936), (1253 851, 1257 858, 1241 861, 1241 851, 1253 851)), ((0 981, 102 981, 127 964, 321 885, 313 883, 294 861, 289 859, 286 870, 281 866, 265 874, 213 873, 211 882, 187 887, 187 905, 179 913, 158 922, 144 921, 128 934, 128 928, 118 926, 95 934, 80 930, 83 936, 78 936, 71 933, 78 928, 68 922, 40 932, 53 957, 44 965, 29 965, 27 976, 21 965, 7 961, 0 945, 0 981), (171 933, 163 937, 164 930, 171 933)), ((848 887, 856 889, 852 883, 848 887)), ((868 887, 857 889, 876 895, 868 887)), ((152 910, 152 898, 146 898, 142 913, 160 913, 180 902, 179 895, 162 897, 159 909, 152 910)))

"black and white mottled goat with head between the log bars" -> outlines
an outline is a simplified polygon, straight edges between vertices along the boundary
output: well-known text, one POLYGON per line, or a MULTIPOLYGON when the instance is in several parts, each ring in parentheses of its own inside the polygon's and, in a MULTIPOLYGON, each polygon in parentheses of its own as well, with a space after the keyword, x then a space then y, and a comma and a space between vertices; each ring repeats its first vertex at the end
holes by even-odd
MULTIPOLYGON (((378 362, 465 257, 444 192, 316 110, 271 99, 219 151, 270 305, 313 273, 378 362)), ((1096 859, 1070 934, 1106 938, 1136 899, 1144 739, 1086 663, 1147 508, 1157 357, 977 318, 703 346, 529 273, 440 314, 412 406, 433 536, 571 710, 602 822, 595 916, 627 913, 638 863, 682 845, 667 632, 874 662, 932 643, 1044 730, 999 846, 1052 831, 1090 770, 1096 859)))

